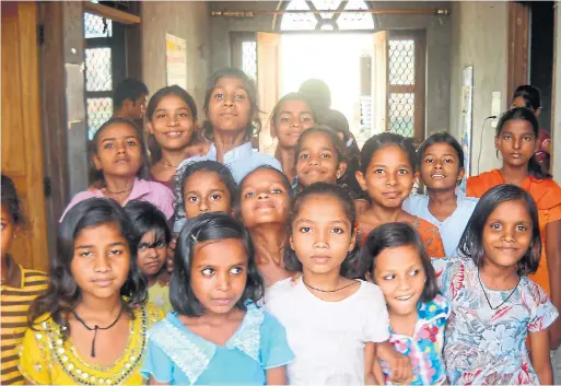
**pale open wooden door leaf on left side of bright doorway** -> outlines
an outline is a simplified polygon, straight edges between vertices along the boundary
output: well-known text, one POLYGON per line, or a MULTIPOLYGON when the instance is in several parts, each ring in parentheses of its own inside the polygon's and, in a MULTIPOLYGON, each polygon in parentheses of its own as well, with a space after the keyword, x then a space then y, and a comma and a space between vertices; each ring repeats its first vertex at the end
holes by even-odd
POLYGON ((281 35, 266 32, 257 33, 257 89, 261 108, 261 132, 259 151, 274 155, 277 140, 271 137, 270 115, 280 97, 281 82, 281 35))

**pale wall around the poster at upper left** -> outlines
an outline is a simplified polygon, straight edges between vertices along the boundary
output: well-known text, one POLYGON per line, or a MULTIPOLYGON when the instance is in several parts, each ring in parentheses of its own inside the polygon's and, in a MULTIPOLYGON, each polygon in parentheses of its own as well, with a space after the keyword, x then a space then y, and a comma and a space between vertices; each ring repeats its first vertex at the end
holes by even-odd
POLYGON ((142 79, 150 93, 166 85, 165 34, 187 40, 187 91, 202 106, 210 63, 209 3, 142 2, 142 79))

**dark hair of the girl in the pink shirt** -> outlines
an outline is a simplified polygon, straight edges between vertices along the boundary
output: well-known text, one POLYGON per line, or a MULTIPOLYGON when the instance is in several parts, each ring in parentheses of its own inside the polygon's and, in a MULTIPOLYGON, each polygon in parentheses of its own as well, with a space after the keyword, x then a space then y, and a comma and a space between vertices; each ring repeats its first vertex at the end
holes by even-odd
POLYGON ((95 167, 94 155, 97 155, 97 150, 98 150, 98 145, 100 145, 97 142, 100 140, 100 134, 106 128, 108 128, 113 125, 120 125, 120 124, 128 125, 131 128, 133 128, 135 132, 137 133, 138 141, 140 143, 140 152, 141 152, 140 157, 142 160, 142 166, 138 169, 137 177, 145 178, 148 176, 149 161, 148 161, 148 153, 147 153, 147 144, 144 143, 144 137, 142 134, 142 131, 139 129, 137 124, 135 124, 131 119, 120 118, 120 117, 110 118, 105 124, 103 124, 102 127, 100 127, 100 129, 97 129, 97 131, 95 131, 94 137, 87 143, 87 153, 89 153, 89 156, 87 156, 87 177, 89 178, 87 179, 89 179, 90 185, 94 185, 96 187, 105 186, 105 177, 104 177, 103 171, 98 171, 97 167, 95 167))

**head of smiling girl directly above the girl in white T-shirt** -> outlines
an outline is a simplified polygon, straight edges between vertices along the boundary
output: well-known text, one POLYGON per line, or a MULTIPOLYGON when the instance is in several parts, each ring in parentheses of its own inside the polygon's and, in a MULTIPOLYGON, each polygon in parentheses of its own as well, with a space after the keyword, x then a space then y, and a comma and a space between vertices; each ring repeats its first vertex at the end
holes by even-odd
POLYGON ((296 191, 317 183, 337 184, 347 169, 344 144, 328 127, 304 131, 296 143, 296 191))

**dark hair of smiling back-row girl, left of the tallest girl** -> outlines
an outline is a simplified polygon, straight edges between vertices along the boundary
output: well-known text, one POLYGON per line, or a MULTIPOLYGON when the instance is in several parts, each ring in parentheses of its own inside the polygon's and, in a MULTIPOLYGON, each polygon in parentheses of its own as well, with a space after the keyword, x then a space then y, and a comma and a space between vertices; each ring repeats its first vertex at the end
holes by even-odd
MULTIPOLYGON (((178 85, 170 85, 163 89, 160 89, 152 97, 150 98, 150 102, 147 106, 147 119, 149 121, 152 121, 154 117, 154 113, 157 108, 157 105, 160 102, 168 96, 168 95, 175 95, 185 102, 187 107, 189 108, 189 112, 191 113, 192 118, 192 133, 191 133, 191 143, 196 142, 198 139, 198 132, 196 130, 197 125, 197 104, 195 103, 195 100, 192 96, 185 91, 184 89, 179 87, 178 85)), ((162 148, 160 148, 160 144, 157 144, 155 138, 153 134, 148 136, 148 148, 150 150, 150 161, 152 164, 155 164, 157 161, 162 159, 162 148)))

